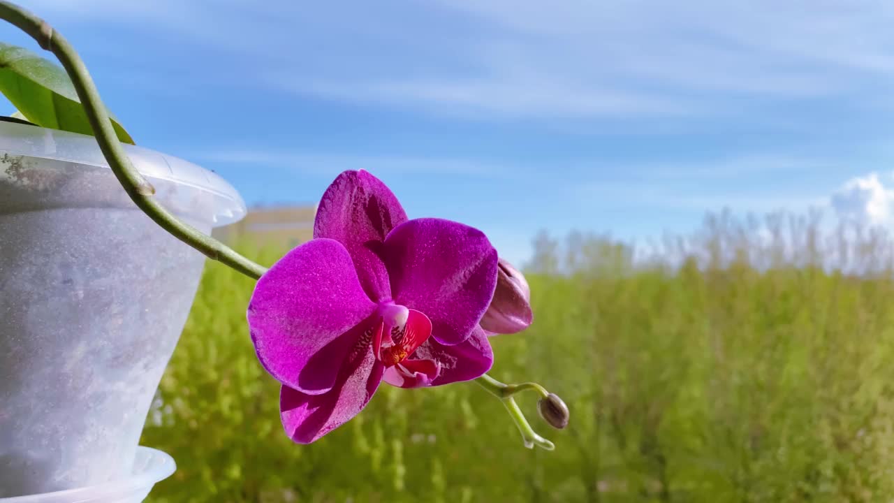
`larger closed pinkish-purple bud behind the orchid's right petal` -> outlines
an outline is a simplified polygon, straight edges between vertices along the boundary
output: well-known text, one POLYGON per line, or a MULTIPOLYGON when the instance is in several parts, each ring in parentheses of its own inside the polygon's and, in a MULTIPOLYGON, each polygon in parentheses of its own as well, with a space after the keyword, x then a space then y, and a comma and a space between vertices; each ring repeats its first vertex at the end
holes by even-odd
POLYGON ((481 319, 481 328, 493 334, 514 334, 534 321, 531 288, 525 276, 508 261, 500 259, 493 300, 481 319))

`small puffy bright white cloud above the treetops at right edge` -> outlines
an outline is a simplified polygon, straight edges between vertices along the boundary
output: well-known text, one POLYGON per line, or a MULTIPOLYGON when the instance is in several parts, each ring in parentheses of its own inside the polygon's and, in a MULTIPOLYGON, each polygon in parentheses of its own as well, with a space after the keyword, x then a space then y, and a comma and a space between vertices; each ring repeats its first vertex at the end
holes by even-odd
POLYGON ((889 223, 894 190, 886 187, 877 173, 858 176, 832 194, 831 207, 844 220, 873 226, 889 223))

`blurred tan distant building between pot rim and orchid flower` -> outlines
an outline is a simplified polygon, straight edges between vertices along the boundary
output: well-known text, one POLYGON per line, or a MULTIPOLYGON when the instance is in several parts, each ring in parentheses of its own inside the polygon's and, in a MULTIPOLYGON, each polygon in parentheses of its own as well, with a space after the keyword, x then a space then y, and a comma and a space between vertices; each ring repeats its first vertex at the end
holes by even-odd
POLYGON ((258 246, 294 248, 314 235, 316 205, 249 208, 248 215, 229 226, 212 232, 224 243, 247 240, 258 246))

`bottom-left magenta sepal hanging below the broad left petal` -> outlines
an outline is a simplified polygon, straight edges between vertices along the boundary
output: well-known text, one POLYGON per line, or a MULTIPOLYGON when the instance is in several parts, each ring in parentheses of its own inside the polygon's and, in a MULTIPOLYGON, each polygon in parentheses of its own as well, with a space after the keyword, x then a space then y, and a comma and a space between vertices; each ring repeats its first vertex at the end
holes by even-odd
POLYGON ((375 361, 372 346, 358 362, 342 369, 335 386, 323 395, 307 395, 283 386, 280 419, 289 438, 309 444, 357 415, 382 382, 384 365, 375 361))

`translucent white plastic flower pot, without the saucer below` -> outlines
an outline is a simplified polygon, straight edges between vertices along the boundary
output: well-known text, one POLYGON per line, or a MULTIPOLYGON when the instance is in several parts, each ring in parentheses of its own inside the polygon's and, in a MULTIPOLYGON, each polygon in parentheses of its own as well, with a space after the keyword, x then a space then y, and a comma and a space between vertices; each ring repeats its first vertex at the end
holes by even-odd
MULTIPOLYGON (((219 176, 126 150, 199 230, 244 216, 219 176)), ((128 198, 93 137, 0 122, 0 498, 131 477, 204 262, 128 198)))

